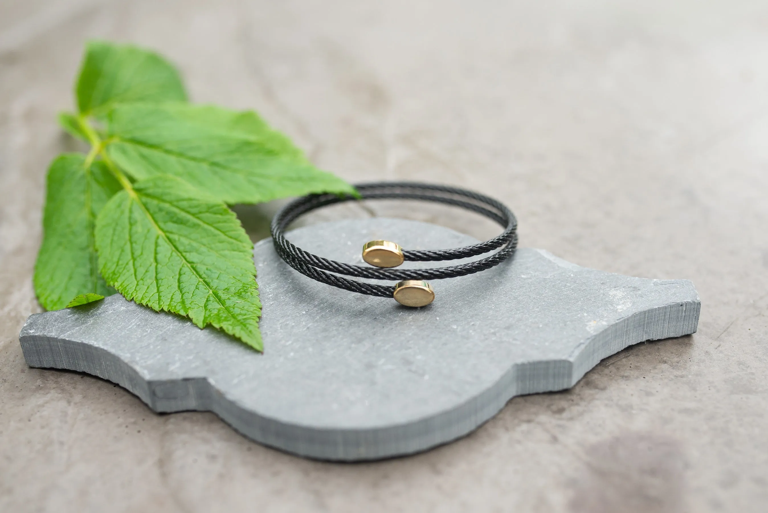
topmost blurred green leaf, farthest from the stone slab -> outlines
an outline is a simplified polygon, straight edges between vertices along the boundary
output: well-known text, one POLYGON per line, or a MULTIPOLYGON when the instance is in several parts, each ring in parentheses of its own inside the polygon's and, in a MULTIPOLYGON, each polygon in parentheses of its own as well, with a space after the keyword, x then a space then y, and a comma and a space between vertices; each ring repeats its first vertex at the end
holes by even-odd
POLYGON ((75 88, 78 110, 101 116, 131 101, 187 101, 178 71, 153 51, 90 41, 75 88))

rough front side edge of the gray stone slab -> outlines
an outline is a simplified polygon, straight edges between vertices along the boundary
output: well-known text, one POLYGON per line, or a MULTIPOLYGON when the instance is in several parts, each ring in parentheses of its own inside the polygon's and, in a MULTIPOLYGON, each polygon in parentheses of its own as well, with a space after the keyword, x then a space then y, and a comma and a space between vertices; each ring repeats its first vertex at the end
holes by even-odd
MULTIPOLYGON (((693 289, 693 284, 690 286, 693 289)), ((210 411, 247 438, 264 445, 309 458, 364 461, 422 452, 451 442, 491 419, 515 396, 569 389, 601 359, 627 346, 695 333, 700 304, 697 298, 634 313, 592 336, 574 350, 571 359, 515 364, 494 386, 453 409, 383 429, 342 431, 286 424, 241 409, 206 378, 147 381, 105 349, 68 339, 30 335, 23 328, 19 342, 28 366, 88 372, 129 390, 155 412, 210 411), (377 449, 376 453, 353 455, 345 450, 350 446, 377 449)), ((40 314, 30 319, 35 315, 40 314)))

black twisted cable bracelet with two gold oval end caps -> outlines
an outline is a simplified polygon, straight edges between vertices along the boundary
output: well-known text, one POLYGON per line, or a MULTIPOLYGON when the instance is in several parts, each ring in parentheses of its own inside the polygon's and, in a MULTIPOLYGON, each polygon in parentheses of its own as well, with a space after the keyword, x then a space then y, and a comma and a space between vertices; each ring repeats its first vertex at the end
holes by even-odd
POLYGON ((504 204, 492 197, 471 190, 445 187, 442 185, 419 184, 415 182, 379 182, 355 186, 364 200, 423 200, 449 204, 480 213, 505 227, 504 232, 485 242, 451 250, 403 250, 398 244, 387 240, 372 240, 362 247, 362 258, 373 267, 354 266, 318 257, 296 247, 283 235, 283 230, 304 213, 319 207, 357 200, 359 198, 336 194, 310 194, 293 200, 280 209, 272 220, 270 230, 275 250, 285 262, 305 276, 340 289, 369 294, 370 296, 394 297, 406 306, 425 306, 432 303, 435 293, 425 280, 454 278, 490 269, 502 263, 513 253, 518 244, 515 214, 504 204), (438 262, 475 257, 489 251, 501 250, 489 257, 449 267, 431 269, 392 269, 404 261, 438 262), (372 278, 374 280, 401 280, 395 286, 377 285, 343 276, 372 278))

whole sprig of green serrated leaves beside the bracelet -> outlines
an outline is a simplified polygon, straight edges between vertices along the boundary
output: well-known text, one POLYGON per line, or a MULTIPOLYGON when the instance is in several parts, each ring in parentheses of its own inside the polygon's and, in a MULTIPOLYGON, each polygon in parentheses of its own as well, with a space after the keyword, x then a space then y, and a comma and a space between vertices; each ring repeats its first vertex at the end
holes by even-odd
POLYGON ((75 100, 78 112, 58 122, 91 151, 48 170, 41 305, 80 306, 116 289, 261 351, 253 244, 227 204, 356 190, 255 112, 186 103, 180 75, 152 51, 89 42, 75 100))

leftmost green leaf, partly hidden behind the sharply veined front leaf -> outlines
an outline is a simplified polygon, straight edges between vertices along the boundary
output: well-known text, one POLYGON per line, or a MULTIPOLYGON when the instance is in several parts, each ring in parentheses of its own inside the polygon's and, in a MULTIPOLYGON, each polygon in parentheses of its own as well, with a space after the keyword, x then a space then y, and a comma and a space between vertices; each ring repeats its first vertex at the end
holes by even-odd
POLYGON ((45 309, 67 306, 78 294, 114 294, 98 273, 94 220, 121 189, 101 162, 63 154, 48 168, 43 243, 35 263, 35 293, 45 309))

